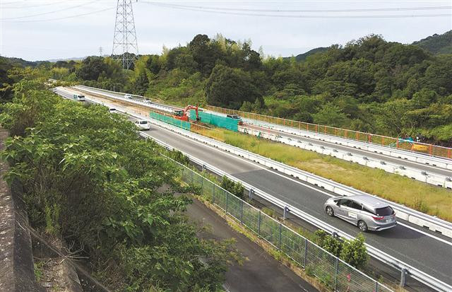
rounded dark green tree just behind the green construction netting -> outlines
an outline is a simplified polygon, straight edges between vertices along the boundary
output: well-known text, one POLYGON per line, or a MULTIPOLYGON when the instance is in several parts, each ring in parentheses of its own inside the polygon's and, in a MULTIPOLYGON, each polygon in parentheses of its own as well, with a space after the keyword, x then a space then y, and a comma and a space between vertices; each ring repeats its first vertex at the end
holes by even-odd
POLYGON ((241 69, 218 64, 206 83, 207 102, 210 105, 239 109, 244 101, 254 103, 262 98, 251 76, 241 69))

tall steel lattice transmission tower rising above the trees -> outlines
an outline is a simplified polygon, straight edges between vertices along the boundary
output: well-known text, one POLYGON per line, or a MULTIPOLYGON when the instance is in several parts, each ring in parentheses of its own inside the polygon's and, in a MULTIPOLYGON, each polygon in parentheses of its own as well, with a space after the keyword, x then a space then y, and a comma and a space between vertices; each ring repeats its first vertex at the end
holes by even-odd
POLYGON ((114 23, 112 58, 121 60, 124 69, 130 69, 133 62, 138 59, 131 2, 131 0, 118 0, 114 23))

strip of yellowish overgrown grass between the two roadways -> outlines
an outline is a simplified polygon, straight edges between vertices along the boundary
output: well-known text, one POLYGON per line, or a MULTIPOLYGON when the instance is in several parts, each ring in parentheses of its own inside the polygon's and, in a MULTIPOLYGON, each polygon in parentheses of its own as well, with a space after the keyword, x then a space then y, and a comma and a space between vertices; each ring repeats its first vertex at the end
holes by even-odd
POLYGON ((201 129, 196 132, 363 192, 376 194, 426 214, 452 221, 452 192, 448 189, 226 129, 201 129))

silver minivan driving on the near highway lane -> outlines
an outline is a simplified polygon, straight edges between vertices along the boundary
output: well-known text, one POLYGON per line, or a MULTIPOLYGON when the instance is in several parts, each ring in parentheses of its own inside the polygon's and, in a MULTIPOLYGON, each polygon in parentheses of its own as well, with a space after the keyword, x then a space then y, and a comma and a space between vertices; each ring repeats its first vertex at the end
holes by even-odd
POLYGON ((397 225, 396 212, 391 206, 371 196, 333 197, 325 202, 323 208, 329 216, 350 222, 363 232, 397 225))

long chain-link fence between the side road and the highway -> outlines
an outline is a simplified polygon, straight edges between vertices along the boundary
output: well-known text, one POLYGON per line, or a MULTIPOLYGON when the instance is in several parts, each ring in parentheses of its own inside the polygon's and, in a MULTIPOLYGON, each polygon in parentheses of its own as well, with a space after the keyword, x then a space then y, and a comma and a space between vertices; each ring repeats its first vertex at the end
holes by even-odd
POLYGON ((263 238, 275 249, 297 262, 307 271, 307 274, 316 276, 331 290, 340 292, 392 291, 194 170, 186 168, 176 161, 174 161, 174 165, 180 169, 180 178, 183 182, 198 187, 201 195, 208 201, 220 207, 232 218, 256 233, 258 237, 263 238))

